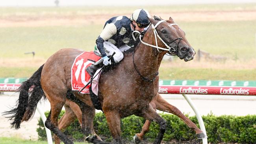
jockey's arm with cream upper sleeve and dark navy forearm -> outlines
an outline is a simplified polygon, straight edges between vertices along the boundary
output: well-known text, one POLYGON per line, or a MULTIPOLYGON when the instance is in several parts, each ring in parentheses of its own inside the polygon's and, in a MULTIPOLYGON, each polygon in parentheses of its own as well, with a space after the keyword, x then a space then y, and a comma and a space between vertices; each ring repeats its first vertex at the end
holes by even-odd
POLYGON ((115 26, 115 24, 110 23, 105 26, 105 28, 100 33, 100 36, 96 39, 97 48, 100 51, 100 54, 102 55, 102 57, 106 56, 103 42, 113 37, 113 35, 115 35, 116 33, 117 33, 117 27, 115 26))

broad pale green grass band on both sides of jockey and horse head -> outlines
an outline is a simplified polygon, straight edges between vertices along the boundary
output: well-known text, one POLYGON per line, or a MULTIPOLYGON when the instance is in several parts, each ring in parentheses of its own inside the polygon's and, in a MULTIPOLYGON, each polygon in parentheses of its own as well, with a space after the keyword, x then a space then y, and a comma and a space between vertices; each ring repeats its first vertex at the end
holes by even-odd
MULTIPOLYGON (((256 55, 256 20, 177 23, 196 51, 243 59, 256 55)), ((35 51, 46 59, 61 48, 93 50, 101 30, 101 25, 0 28, 0 57, 24 58, 24 52, 35 51)))

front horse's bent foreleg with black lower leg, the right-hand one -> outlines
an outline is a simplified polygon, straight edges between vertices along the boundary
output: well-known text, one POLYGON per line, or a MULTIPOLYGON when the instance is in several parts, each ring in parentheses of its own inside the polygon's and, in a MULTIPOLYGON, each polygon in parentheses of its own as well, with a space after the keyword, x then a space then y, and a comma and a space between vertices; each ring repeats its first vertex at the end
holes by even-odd
POLYGON ((165 129, 167 127, 166 121, 158 113, 156 113, 156 111, 153 109, 151 105, 149 105, 148 108, 142 111, 142 113, 138 116, 142 116, 147 120, 154 121, 159 124, 160 130, 158 136, 156 137, 156 140, 154 141, 154 144, 160 144, 161 140, 163 139, 165 129))

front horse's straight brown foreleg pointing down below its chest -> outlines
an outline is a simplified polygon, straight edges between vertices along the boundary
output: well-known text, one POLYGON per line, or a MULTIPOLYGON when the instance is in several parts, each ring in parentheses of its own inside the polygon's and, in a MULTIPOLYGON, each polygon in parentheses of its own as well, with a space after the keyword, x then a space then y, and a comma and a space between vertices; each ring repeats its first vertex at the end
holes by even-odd
POLYGON ((104 113, 108 122, 109 130, 114 139, 114 144, 121 144, 122 138, 119 113, 117 111, 106 111, 104 113))

